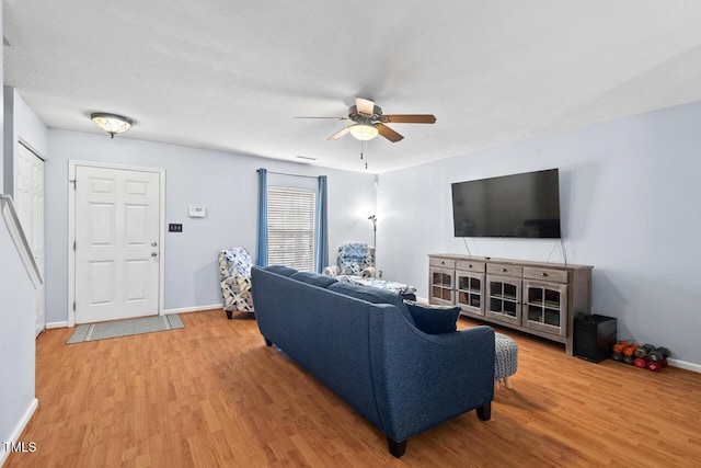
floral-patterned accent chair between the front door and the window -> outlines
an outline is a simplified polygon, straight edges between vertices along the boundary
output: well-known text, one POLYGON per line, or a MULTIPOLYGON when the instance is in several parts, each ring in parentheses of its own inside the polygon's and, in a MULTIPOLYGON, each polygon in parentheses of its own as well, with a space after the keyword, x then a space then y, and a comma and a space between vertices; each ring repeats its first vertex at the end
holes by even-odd
POLYGON ((219 251, 219 275, 223 310, 230 319, 234 311, 253 312, 251 297, 251 267, 249 252, 240 247, 219 251))

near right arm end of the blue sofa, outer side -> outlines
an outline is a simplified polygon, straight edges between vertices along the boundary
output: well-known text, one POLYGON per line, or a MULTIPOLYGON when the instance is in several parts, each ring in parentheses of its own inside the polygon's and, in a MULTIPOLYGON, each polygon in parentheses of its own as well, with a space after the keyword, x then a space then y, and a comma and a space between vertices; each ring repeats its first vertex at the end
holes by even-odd
POLYGON ((371 320, 386 322, 371 328, 381 335, 372 336, 370 345, 378 410, 389 437, 405 441, 473 409, 489 419, 494 398, 491 327, 430 335, 389 310, 371 320))

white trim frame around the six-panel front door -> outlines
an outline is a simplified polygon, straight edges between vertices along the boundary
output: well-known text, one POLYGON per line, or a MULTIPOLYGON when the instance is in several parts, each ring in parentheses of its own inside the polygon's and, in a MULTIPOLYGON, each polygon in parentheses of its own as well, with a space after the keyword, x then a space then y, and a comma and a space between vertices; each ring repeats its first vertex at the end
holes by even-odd
POLYGON ((76 168, 78 165, 104 169, 123 169, 127 171, 153 172, 159 174, 160 194, 159 194, 159 242, 158 256, 159 262, 159 286, 158 286, 158 315, 164 313, 164 294, 165 294, 165 259, 163 256, 165 242, 165 170, 156 168, 140 168, 136 165, 107 164, 93 161, 68 161, 68 327, 76 326, 76 251, 73 244, 76 242, 76 168))

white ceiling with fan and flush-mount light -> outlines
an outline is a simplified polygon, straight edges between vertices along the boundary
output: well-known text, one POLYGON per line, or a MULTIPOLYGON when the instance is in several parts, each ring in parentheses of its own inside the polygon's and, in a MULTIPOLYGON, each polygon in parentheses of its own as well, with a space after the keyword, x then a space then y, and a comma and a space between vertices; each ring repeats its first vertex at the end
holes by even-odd
MULTIPOLYGON (((4 83, 54 128, 366 171, 355 96, 434 125, 368 172, 701 100, 698 0, 4 0, 4 83)), ((700 123, 701 127, 701 123, 700 123)), ((107 136, 105 136, 107 138, 107 136)))

